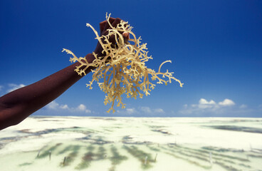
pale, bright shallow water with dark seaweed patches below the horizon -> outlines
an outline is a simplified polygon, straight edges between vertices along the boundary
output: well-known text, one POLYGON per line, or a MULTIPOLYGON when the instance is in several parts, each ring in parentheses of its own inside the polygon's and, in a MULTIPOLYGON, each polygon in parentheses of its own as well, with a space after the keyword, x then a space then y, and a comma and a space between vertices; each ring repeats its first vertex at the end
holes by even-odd
POLYGON ((0 132, 1 170, 262 170, 261 118, 33 117, 0 132))

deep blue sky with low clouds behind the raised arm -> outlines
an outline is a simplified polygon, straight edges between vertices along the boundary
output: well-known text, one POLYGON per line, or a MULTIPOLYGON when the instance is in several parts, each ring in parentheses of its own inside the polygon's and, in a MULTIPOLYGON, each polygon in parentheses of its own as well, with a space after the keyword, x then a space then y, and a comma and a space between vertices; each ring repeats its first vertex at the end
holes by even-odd
POLYGON ((147 43, 149 68, 184 83, 157 85, 105 113, 105 94, 85 76, 34 115, 262 117, 262 1, 0 1, 0 95, 92 53, 105 13, 129 21, 147 43))

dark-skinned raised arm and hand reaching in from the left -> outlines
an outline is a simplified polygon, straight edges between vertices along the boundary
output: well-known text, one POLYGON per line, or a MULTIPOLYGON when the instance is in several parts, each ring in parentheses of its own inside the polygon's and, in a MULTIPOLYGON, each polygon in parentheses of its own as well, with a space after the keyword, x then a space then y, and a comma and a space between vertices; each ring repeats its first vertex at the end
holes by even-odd
MULTIPOLYGON (((121 19, 110 18, 109 21, 115 27, 120 23, 121 19)), ((109 27, 107 21, 101 22, 100 35, 107 35, 109 27)), ((125 37, 128 38, 129 35, 125 35, 125 37)), ((111 38, 110 41, 112 44, 115 44, 115 38, 111 38)), ((103 56, 102 51, 103 48, 98 43, 94 52, 98 56, 103 56)), ((95 59, 91 53, 85 56, 85 58, 88 63, 92 63, 95 59)), ((41 81, 2 96, 0 98, 0 130, 21 123, 22 120, 36 110, 43 108, 43 106, 58 98, 59 95, 83 77, 74 71, 75 66, 79 65, 80 63, 73 63, 71 66, 53 73, 41 81)), ((85 72, 89 73, 91 69, 93 68, 88 68, 88 71, 85 72)))

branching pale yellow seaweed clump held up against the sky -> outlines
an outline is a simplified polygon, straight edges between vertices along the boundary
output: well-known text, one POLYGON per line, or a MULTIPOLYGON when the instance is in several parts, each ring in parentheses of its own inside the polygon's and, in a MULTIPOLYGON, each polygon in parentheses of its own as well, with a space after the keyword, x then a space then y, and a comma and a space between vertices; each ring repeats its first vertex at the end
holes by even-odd
POLYGON ((108 29, 108 35, 99 36, 95 28, 90 24, 86 24, 93 29, 96 39, 103 47, 103 54, 105 56, 99 57, 97 54, 93 53, 95 60, 92 63, 83 57, 76 57, 75 54, 68 49, 63 48, 63 51, 71 54, 73 58, 70 58, 70 62, 78 61, 80 66, 75 68, 75 71, 82 76, 85 75, 85 70, 88 67, 95 67, 93 72, 92 81, 87 84, 87 87, 92 89, 94 81, 98 82, 98 86, 103 92, 105 92, 105 105, 112 103, 110 110, 114 113, 115 110, 113 106, 115 100, 117 101, 117 107, 121 105, 125 108, 125 104, 122 103, 122 95, 126 94, 127 98, 137 98, 139 96, 142 98, 143 93, 145 95, 150 95, 150 91, 156 86, 154 83, 150 82, 150 76, 152 81, 157 81, 157 83, 171 83, 172 80, 177 81, 182 87, 181 83, 177 78, 172 76, 168 70, 166 72, 161 72, 160 69, 164 63, 171 63, 171 61, 164 61, 160 66, 158 71, 154 71, 145 66, 145 62, 152 59, 152 56, 147 56, 147 43, 141 43, 141 37, 137 38, 135 33, 133 33, 132 26, 126 21, 120 21, 116 27, 113 27, 110 22, 110 14, 106 14, 106 19, 110 28, 108 29), (121 33, 129 33, 130 39, 126 40, 121 33), (115 37, 115 44, 112 44, 109 39, 110 37, 115 37))

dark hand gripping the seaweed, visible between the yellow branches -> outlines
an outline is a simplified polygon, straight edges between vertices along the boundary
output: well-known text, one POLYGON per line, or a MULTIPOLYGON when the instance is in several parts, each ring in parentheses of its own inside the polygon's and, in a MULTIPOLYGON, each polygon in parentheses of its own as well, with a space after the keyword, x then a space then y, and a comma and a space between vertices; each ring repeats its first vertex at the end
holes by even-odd
MULTIPOLYGON (((115 18, 110 17, 109 21, 113 27, 116 27, 117 24, 120 24, 121 19, 119 18, 115 19, 115 18)), ((100 36, 103 36, 103 35, 106 36, 108 34, 108 28, 110 28, 108 21, 102 21, 100 23, 100 36)), ((125 41, 129 39, 129 33, 122 33, 122 36, 124 36, 125 41)), ((112 43, 112 45, 115 45, 115 36, 111 36, 109 38, 109 41, 110 43, 112 43)), ((98 42, 98 45, 96 46, 94 52, 98 54, 98 57, 105 56, 105 53, 102 53, 102 51, 103 51, 103 48, 100 45, 100 43, 98 42)))

